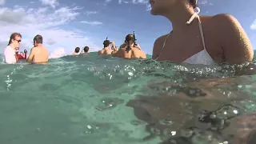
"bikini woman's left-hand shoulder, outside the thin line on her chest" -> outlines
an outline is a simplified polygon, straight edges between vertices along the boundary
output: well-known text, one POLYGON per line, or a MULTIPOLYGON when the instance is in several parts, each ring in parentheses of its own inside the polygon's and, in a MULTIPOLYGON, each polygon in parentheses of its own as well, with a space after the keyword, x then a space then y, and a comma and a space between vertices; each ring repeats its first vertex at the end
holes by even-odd
POLYGON ((153 47, 153 53, 152 53, 152 58, 158 58, 160 51, 162 49, 162 45, 165 42, 166 38, 167 38, 168 34, 162 35, 161 37, 157 38, 154 41, 154 47, 153 47))

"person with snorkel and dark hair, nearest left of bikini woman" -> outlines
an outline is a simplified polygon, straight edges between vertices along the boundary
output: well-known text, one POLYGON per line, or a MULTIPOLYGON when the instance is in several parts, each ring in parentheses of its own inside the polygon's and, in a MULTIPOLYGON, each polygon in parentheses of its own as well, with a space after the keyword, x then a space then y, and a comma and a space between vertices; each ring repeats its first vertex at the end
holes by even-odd
POLYGON ((113 57, 146 58, 146 54, 143 52, 141 46, 135 44, 134 34, 128 34, 125 42, 126 45, 120 46, 120 49, 115 54, 112 54, 113 57))

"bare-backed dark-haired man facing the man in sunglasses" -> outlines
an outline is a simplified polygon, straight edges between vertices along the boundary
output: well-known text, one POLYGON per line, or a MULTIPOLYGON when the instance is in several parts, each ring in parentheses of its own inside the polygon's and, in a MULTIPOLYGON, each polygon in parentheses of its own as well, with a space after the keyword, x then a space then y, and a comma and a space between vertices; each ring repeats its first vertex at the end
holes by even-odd
POLYGON ((42 36, 34 37, 34 47, 30 50, 30 56, 26 59, 28 63, 44 64, 48 62, 49 51, 42 46, 42 36))

